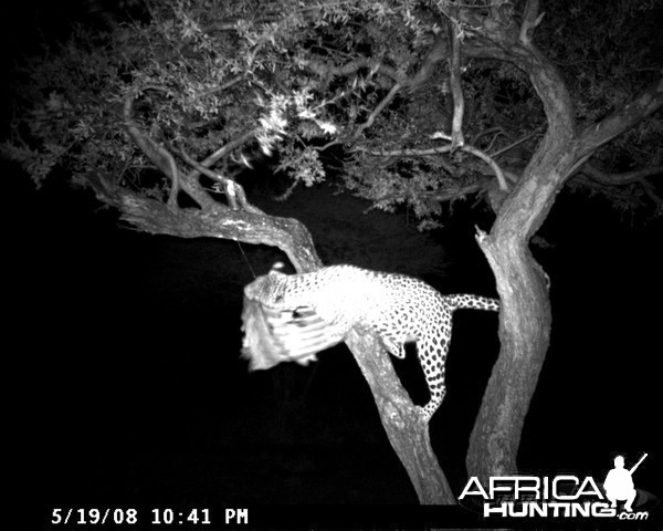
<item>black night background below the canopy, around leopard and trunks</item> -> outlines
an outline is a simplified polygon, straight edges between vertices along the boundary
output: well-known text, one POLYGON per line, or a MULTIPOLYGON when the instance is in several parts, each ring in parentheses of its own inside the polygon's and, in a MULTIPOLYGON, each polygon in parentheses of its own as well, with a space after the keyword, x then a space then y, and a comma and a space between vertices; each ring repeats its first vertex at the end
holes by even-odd
MULTIPOLYGON (((6 43, 25 45, 27 34, 6 34, 6 43)), ((252 270, 263 274, 282 259, 277 250, 139 233, 90 192, 57 179, 36 192, 14 165, 2 169, 6 435, 25 503, 417 502, 344 345, 311 367, 248 374, 239 357, 242 288, 252 270)), ((380 269, 399 252, 388 242, 368 258, 347 250, 387 222, 362 217, 368 204, 325 187, 293 201, 263 208, 298 217, 329 263, 355 258, 380 269), (347 235, 329 235, 333 221, 320 219, 335 209, 347 235)), ((421 275, 445 293, 494 295, 473 236, 492 220, 459 208, 423 248, 433 263, 421 275)), ((519 466, 602 479, 617 454, 632 465, 649 452, 635 485, 661 497, 662 222, 564 191, 539 236, 549 243, 534 252, 551 280, 552 336, 519 466)), ((448 395, 431 425, 456 492, 497 351, 495 315, 456 312, 448 395)), ((396 366, 425 402, 413 353, 396 366)))

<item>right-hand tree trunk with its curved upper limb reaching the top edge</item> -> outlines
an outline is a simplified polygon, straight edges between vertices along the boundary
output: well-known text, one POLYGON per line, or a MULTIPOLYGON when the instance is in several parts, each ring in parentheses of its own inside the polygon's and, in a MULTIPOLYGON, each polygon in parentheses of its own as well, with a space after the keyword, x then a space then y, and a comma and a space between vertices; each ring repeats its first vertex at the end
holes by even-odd
POLYGON ((467 51, 511 61, 526 72, 541 100, 548 129, 499 207, 491 235, 478 238, 502 300, 502 347, 474 424, 466 459, 469 473, 482 480, 517 471, 520 435, 548 350, 551 325, 547 278, 528 246, 577 162, 570 94, 557 67, 532 42, 532 33, 540 22, 538 2, 527 2, 519 29, 499 17, 483 22, 487 40, 474 51, 469 46, 467 51))

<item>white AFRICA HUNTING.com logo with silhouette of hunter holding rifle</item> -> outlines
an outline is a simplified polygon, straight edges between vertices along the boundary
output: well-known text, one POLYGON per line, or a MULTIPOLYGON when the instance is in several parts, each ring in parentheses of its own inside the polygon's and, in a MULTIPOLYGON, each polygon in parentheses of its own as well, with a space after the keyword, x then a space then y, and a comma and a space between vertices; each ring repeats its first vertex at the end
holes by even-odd
POLYGON ((644 454, 630 469, 623 456, 602 483, 591 476, 555 477, 497 476, 482 483, 472 477, 459 497, 462 506, 483 512, 485 518, 612 518, 646 520, 656 497, 636 489, 633 472, 646 458, 644 454))

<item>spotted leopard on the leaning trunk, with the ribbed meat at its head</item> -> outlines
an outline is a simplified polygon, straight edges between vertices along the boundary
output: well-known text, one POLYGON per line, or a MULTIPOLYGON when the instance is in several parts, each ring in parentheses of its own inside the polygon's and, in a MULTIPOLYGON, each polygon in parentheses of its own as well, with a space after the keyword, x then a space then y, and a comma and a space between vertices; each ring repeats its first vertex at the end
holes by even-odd
POLYGON ((250 371, 282 362, 307 365, 356 325, 375 332, 400 360, 406 344, 414 343, 430 395, 417 407, 428 423, 446 394, 445 362, 457 309, 499 311, 499 300, 443 295, 414 277, 350 264, 287 274, 277 262, 244 288, 242 357, 250 371))

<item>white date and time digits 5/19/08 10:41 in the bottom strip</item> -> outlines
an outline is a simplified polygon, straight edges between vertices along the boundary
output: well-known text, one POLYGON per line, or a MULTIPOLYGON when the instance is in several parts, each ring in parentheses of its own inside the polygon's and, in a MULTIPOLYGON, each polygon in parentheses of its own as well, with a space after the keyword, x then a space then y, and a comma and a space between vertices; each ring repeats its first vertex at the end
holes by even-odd
MULTIPOLYGON (((239 509, 236 511, 240 511, 239 509)), ((147 511, 149 517, 145 519, 139 509, 135 508, 85 508, 85 509, 63 509, 53 508, 50 514, 50 523, 53 527, 59 525, 134 525, 148 523, 150 525, 168 525, 187 523, 210 524, 212 523, 209 509, 171 509, 159 508, 147 511), (146 521, 147 520, 147 521, 146 521)), ((228 511, 227 511, 228 512, 228 511)))

